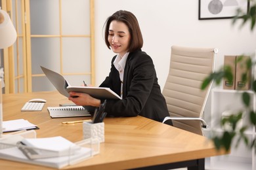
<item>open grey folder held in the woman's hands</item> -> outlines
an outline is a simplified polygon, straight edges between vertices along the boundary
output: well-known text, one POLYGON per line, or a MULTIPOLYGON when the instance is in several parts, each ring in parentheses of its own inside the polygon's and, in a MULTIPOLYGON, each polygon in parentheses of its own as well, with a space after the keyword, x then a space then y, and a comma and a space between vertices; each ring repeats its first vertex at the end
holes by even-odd
POLYGON ((110 88, 71 86, 62 75, 42 66, 41 69, 47 78, 51 81, 53 86, 58 90, 58 92, 60 92, 62 95, 65 95, 66 97, 70 96, 68 92, 81 92, 88 93, 96 99, 121 99, 121 97, 113 92, 110 88))

